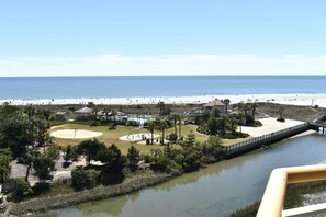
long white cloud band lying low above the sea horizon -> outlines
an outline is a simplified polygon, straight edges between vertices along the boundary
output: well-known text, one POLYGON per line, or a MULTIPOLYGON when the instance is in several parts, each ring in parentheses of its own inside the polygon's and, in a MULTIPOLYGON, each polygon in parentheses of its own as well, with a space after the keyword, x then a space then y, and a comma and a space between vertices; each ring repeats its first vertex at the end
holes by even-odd
POLYGON ((0 76, 130 76, 130 75, 326 75, 326 55, 102 55, 78 58, 0 59, 0 76))

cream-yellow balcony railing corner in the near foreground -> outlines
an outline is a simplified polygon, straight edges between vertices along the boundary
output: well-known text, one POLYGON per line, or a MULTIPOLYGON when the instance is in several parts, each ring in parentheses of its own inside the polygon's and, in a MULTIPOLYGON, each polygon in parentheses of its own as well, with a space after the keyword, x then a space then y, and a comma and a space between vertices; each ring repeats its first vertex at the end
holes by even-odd
POLYGON ((326 180, 326 164, 280 168, 271 172, 257 217, 311 216, 326 212, 326 203, 283 210, 286 184, 326 180))

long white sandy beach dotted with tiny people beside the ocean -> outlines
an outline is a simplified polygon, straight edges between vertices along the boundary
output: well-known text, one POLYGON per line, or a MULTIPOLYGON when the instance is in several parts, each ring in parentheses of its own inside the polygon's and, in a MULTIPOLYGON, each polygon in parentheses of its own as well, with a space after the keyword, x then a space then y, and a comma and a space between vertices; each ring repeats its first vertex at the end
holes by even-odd
POLYGON ((94 104, 108 105, 137 105, 137 104, 203 104, 215 99, 229 99, 231 103, 254 103, 271 102, 286 105, 302 105, 326 107, 326 93, 307 94, 216 94, 216 95, 194 95, 194 96, 133 96, 133 98, 76 98, 76 99, 1 99, 0 104, 9 102, 11 105, 68 105, 68 104, 94 104))

